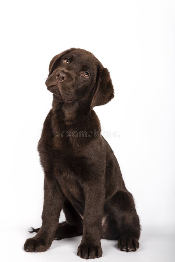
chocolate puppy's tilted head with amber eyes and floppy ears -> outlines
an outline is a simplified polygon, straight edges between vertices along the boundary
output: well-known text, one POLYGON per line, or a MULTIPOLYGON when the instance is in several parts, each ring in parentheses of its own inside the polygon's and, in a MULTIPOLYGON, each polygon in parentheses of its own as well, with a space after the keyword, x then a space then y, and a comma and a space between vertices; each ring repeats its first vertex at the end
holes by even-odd
POLYGON ((53 57, 46 80, 48 90, 63 102, 89 102, 90 108, 114 97, 110 74, 84 49, 71 48, 53 57))

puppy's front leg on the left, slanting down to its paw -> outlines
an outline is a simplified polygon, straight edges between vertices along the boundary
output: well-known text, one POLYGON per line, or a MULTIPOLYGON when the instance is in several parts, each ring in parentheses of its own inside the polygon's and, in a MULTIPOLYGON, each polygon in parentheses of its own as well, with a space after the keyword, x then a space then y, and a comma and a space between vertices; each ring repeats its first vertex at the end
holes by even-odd
POLYGON ((26 252, 44 252, 50 247, 58 228, 63 201, 64 195, 58 182, 45 175, 43 222, 36 236, 26 240, 24 244, 26 252))

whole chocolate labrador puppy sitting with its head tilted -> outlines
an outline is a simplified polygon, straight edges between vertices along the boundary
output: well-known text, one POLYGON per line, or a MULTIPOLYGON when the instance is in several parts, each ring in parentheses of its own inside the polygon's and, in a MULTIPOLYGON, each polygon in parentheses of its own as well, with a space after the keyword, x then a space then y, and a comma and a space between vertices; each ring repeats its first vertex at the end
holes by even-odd
POLYGON ((93 110, 114 97, 107 68, 92 53, 71 48, 50 61, 46 86, 53 107, 38 142, 44 170, 42 226, 32 228, 37 234, 26 240, 24 250, 43 252, 54 239, 83 235, 81 258, 101 257, 101 238, 118 240, 120 250, 136 251, 140 224, 134 200, 93 110), (66 221, 59 223, 62 209, 66 221))

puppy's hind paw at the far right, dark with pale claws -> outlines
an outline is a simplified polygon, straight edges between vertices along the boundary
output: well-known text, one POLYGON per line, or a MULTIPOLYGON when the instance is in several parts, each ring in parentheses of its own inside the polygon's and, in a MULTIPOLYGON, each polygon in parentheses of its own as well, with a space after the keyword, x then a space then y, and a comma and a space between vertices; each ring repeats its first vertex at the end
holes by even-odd
POLYGON ((139 242, 134 237, 124 236, 118 240, 118 249, 120 249, 121 251, 136 251, 138 248, 139 242))

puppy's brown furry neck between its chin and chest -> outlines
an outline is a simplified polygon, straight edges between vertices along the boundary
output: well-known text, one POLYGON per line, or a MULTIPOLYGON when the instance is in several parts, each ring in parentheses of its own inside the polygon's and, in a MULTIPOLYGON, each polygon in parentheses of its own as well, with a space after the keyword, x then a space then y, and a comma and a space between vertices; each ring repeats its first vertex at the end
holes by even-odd
POLYGON ((75 122, 78 122, 82 115, 88 114, 86 110, 87 105, 81 101, 73 101, 71 103, 62 102, 57 100, 53 96, 53 114, 59 116, 60 120, 65 123, 65 125, 70 126, 75 122))

